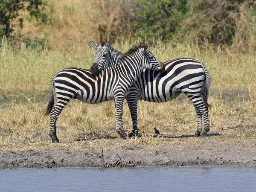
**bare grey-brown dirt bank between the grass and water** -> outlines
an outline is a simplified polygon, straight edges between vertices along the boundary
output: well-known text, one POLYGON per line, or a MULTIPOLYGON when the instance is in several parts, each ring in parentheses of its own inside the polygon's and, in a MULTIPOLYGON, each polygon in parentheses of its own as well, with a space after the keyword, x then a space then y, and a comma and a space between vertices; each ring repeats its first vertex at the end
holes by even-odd
MULTIPOLYGON (((221 132, 208 137, 163 137, 161 145, 124 144, 110 138, 108 146, 71 149, 68 144, 49 144, 48 149, 3 151, 0 169, 115 168, 135 166, 233 166, 256 167, 254 137, 229 138, 221 132), (172 142, 173 141, 173 142, 172 142), (177 142, 179 141, 179 142, 177 142), (117 147, 116 147, 117 146, 117 147)), ((79 142, 79 141, 75 141, 79 142)))

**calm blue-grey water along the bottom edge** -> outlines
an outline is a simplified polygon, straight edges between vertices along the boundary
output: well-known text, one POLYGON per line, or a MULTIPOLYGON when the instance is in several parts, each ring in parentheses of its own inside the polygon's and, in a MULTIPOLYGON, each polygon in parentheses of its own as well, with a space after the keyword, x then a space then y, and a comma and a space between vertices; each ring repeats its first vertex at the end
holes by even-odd
POLYGON ((0 191, 254 192, 253 168, 0 170, 0 191))

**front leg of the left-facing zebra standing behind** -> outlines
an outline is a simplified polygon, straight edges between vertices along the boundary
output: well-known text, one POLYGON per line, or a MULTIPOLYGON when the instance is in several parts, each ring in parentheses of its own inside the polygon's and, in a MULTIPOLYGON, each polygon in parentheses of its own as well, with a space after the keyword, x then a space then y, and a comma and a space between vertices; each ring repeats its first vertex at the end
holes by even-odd
POLYGON ((137 117, 138 117, 138 99, 137 97, 128 97, 127 103, 130 109, 131 113, 131 119, 132 119, 132 131, 129 134, 129 138, 137 136, 141 137, 141 134, 138 132, 138 124, 137 124, 137 117))

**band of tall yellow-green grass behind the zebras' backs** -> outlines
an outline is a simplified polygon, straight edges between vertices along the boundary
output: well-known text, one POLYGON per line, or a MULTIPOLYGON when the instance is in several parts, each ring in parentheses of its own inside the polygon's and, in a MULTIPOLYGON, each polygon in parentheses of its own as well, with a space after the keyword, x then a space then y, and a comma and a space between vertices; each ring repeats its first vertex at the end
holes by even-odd
MULTIPOLYGON (((139 42, 135 40, 134 42, 139 42)), ((74 47, 70 52, 59 49, 13 49, 6 42, 0 45, 0 90, 44 91, 49 89, 52 76, 67 67, 89 69, 93 63, 93 48, 74 47)), ((113 47, 125 52, 130 41, 119 41, 113 47)), ((256 58, 254 54, 234 54, 227 49, 215 51, 211 47, 199 49, 192 43, 149 45, 161 61, 188 57, 203 62, 212 79, 212 87, 248 89, 255 87, 256 58)))

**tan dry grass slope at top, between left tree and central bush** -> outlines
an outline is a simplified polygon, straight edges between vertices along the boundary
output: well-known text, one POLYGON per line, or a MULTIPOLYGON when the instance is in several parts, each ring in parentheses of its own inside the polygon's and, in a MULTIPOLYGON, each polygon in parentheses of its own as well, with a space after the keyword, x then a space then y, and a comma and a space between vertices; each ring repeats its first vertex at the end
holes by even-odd
MULTIPOLYGON (((90 40, 106 41, 122 38, 122 30, 130 32, 122 6, 129 0, 50 0, 48 25, 24 20, 21 41, 46 38, 46 47, 72 50, 88 48, 90 40), (121 32, 120 32, 121 31, 121 32)), ((27 14, 22 12, 21 14, 27 14)), ((19 33, 17 31, 17 33, 19 33)))

